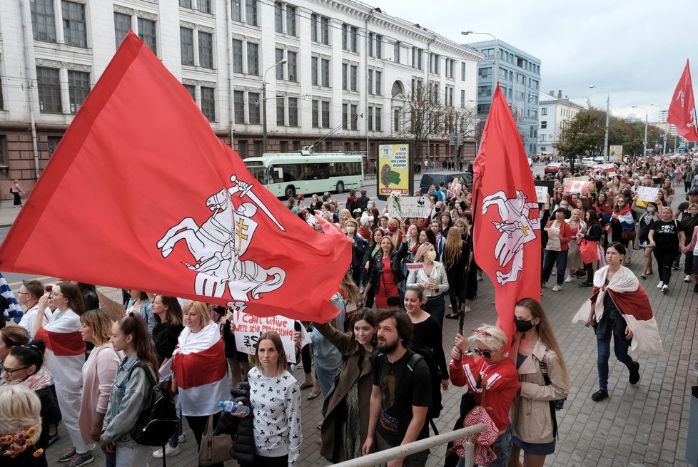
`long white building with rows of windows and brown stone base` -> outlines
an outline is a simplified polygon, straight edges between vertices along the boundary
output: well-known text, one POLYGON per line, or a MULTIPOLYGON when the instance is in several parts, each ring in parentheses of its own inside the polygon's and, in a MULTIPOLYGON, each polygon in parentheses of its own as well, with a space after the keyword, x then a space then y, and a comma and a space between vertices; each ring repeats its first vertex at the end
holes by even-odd
MULTIPOLYGON (((0 2, 0 191, 29 188, 129 29, 181 80, 242 157, 315 150, 375 157, 410 138, 415 83, 440 103, 475 100, 482 55, 350 0, 31 0, 0 2), (263 86, 265 83, 265 86, 263 86), (32 138, 35 130, 36 138, 32 138)), ((474 142, 465 153, 474 155, 474 142)), ((430 135, 430 158, 452 158, 430 135)), ((372 163, 370 165, 373 166, 372 163)))

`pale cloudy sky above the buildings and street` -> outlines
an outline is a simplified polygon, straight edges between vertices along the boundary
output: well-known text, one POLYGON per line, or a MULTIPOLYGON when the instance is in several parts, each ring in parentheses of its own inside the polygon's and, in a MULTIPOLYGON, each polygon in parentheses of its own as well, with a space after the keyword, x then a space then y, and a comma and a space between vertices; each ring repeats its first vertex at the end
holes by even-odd
MULTIPOLYGON (((573 101, 611 113, 657 120, 668 108, 688 58, 698 83, 698 0, 363 0, 460 43, 487 32, 542 61, 542 93, 562 89, 573 101)), ((697 96, 698 98, 698 96, 697 96)))

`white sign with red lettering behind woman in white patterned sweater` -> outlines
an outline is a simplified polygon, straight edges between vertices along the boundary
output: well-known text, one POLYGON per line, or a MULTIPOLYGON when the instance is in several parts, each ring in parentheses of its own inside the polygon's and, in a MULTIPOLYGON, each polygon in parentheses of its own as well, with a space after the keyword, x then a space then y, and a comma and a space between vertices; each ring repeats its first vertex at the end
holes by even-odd
POLYGON ((235 347, 246 354, 255 354, 255 344, 263 332, 274 331, 281 337, 286 359, 295 363, 295 345, 293 344, 293 319, 283 316, 258 317, 237 310, 233 312, 235 324, 235 347))

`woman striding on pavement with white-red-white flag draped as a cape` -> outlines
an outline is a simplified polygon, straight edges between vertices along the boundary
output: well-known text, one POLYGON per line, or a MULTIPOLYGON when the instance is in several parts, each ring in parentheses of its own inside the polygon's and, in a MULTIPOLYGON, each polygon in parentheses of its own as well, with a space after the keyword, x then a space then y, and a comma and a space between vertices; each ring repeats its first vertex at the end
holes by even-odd
POLYGON ((647 293, 631 270, 623 266, 625 247, 613 242, 606 250, 605 267, 594 274, 592 297, 582 305, 572 322, 585 320, 585 326, 593 326, 597 342, 597 366, 599 390, 592 394, 592 401, 608 397, 608 358, 611 336, 616 358, 630 372, 629 383, 640 379, 639 363, 633 361, 628 350, 638 354, 657 356, 662 353, 657 322, 652 317, 652 307, 647 293))

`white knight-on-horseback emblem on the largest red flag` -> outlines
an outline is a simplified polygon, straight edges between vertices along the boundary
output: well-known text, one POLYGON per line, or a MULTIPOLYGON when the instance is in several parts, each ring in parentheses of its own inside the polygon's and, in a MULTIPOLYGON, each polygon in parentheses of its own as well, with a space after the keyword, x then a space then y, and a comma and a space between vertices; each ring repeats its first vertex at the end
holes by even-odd
POLYGON ((184 218, 166 232, 157 247, 163 257, 168 257, 178 241, 186 242, 194 261, 182 264, 197 272, 196 294, 221 298, 227 287, 233 300, 256 300, 281 287, 286 272, 280 267, 265 269, 253 260, 241 260, 258 227, 254 217, 261 211, 279 230, 285 229, 252 191, 254 185, 237 180, 235 175, 231 182, 234 185, 206 200, 213 212, 208 220, 198 225, 192 217, 184 218), (235 207, 234 195, 247 199, 235 207))

